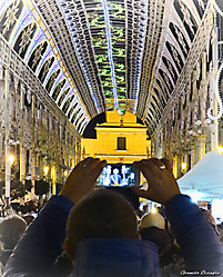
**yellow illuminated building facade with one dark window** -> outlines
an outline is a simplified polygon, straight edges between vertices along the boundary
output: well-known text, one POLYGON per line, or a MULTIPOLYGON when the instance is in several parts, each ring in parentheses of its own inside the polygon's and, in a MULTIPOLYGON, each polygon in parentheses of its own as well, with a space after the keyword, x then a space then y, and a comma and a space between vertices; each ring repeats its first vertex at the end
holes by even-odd
POLYGON ((150 157, 146 127, 136 123, 136 117, 130 112, 120 116, 118 111, 108 111, 107 122, 98 125, 95 130, 97 139, 81 139, 82 158, 131 164, 150 157))

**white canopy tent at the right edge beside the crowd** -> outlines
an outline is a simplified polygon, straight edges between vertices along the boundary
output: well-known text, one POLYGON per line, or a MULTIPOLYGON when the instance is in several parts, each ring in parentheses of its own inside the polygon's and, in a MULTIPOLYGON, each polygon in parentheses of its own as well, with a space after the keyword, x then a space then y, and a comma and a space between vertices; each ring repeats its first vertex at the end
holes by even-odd
POLYGON ((207 152, 178 184, 183 194, 201 192, 201 199, 223 198, 223 155, 207 152))

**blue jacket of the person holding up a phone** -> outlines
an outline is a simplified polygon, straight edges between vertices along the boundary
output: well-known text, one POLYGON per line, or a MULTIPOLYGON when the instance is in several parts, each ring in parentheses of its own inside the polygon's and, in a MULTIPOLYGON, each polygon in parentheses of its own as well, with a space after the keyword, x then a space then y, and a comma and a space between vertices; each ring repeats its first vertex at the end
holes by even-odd
MULTIPOLYGON (((14 249, 3 277, 52 276, 53 263, 62 251, 71 207, 72 204, 62 196, 54 196, 48 201, 14 249)), ((166 205, 166 214, 181 246, 186 270, 205 276, 223 273, 222 245, 197 206, 187 196, 178 195, 166 205)), ((160 275, 158 248, 150 241, 88 239, 79 244, 72 276, 160 275)))

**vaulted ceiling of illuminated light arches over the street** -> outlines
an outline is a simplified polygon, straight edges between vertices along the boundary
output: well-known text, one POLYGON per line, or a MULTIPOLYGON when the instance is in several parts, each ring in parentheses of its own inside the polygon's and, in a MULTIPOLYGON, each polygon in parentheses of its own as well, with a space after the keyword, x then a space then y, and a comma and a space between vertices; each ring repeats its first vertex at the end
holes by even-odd
POLYGON ((10 40, 9 30, 4 30, 4 38, 79 130, 105 110, 124 109, 143 119, 152 131, 186 62, 209 0, 12 2, 27 8, 17 8, 14 13, 20 21, 13 32, 17 39, 10 40), (28 26, 22 9, 29 9, 39 23, 28 26), (40 41, 34 31, 39 26, 45 29, 40 41), (23 42, 21 48, 22 30, 33 33, 30 44, 23 42), (45 58, 51 44, 58 56, 45 58), (63 70, 55 66, 58 60, 63 70), (65 72, 64 78, 61 72, 65 72))

